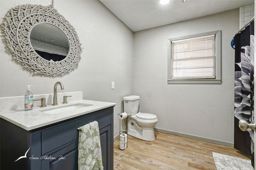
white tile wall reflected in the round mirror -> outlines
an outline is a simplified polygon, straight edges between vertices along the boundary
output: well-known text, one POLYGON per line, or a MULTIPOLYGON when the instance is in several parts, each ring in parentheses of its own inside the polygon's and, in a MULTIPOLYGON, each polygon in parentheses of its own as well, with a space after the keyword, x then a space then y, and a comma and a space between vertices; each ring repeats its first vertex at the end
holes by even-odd
POLYGON ((31 45, 34 48, 39 48, 39 51, 44 51, 44 52, 49 52, 50 53, 55 53, 55 54, 68 54, 68 48, 60 47, 58 45, 50 44, 50 43, 45 43, 45 42, 40 42, 38 40, 34 40, 30 38, 31 45), (48 49, 48 50, 44 50, 48 49))

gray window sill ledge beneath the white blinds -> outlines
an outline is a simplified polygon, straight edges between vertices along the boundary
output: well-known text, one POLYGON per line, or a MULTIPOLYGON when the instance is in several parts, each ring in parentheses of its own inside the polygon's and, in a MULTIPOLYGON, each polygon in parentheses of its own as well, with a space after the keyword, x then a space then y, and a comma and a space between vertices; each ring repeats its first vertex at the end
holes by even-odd
POLYGON ((221 84, 221 79, 167 80, 167 84, 221 84))

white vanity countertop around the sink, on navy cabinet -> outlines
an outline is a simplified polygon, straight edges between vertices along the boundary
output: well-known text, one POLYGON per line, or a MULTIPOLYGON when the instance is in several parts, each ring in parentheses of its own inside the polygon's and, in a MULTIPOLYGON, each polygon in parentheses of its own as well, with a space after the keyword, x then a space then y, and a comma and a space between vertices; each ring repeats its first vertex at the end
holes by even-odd
POLYGON ((36 128, 44 127, 46 125, 51 125, 53 123, 58 123, 60 121, 68 120, 74 117, 92 113, 94 111, 99 111, 108 107, 115 106, 116 103, 108 103, 102 101, 91 101, 91 100, 77 100, 70 101, 67 104, 59 103, 56 106, 47 105, 47 107, 34 107, 32 111, 24 111, 24 109, 17 109, 12 111, 0 112, 0 117, 17 125, 25 130, 33 130, 36 128), (57 114, 48 114, 42 112, 42 110, 63 107, 67 105, 72 105, 74 103, 84 103, 91 106, 83 107, 77 109, 76 111, 69 111, 57 114))

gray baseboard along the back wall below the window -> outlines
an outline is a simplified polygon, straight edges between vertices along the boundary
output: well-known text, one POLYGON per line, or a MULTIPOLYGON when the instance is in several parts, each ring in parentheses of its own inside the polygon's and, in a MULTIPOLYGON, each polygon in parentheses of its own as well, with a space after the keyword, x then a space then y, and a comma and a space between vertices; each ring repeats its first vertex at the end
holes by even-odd
POLYGON ((182 136, 185 138, 191 138, 191 139, 196 139, 196 140, 201 140, 204 142, 210 142, 210 143, 214 143, 214 144, 221 144, 224 146, 230 146, 232 148, 234 148, 234 143, 231 142, 225 142, 222 140, 215 140, 215 139, 211 139, 211 138, 204 138, 201 136, 196 136, 196 135, 192 135, 192 134, 186 134, 186 133, 181 133, 181 132, 175 132, 175 131, 171 131, 171 130, 166 130, 166 129, 162 129, 162 128, 154 128, 155 131, 157 132, 164 132, 167 134, 173 134, 173 135, 177 135, 177 136, 182 136))

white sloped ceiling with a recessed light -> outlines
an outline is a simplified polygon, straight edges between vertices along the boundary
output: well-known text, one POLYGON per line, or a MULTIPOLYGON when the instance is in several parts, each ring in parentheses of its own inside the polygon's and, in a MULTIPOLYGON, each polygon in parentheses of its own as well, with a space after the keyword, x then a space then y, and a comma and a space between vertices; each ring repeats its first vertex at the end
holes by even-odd
POLYGON ((254 4, 254 0, 100 0, 133 32, 254 4))

